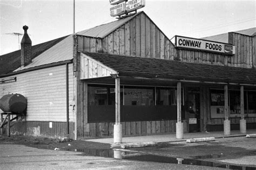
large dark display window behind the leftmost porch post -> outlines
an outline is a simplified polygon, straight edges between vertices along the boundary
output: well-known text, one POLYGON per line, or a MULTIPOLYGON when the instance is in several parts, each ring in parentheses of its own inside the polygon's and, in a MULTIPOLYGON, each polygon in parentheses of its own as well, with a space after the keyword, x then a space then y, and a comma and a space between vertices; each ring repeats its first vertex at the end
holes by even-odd
MULTIPOLYGON (((115 121, 114 85, 89 84, 87 89, 88 123, 115 121)), ((177 90, 174 87, 122 85, 120 104, 121 121, 177 120, 177 90)), ((181 111, 181 118, 185 119, 183 106, 181 111)))

